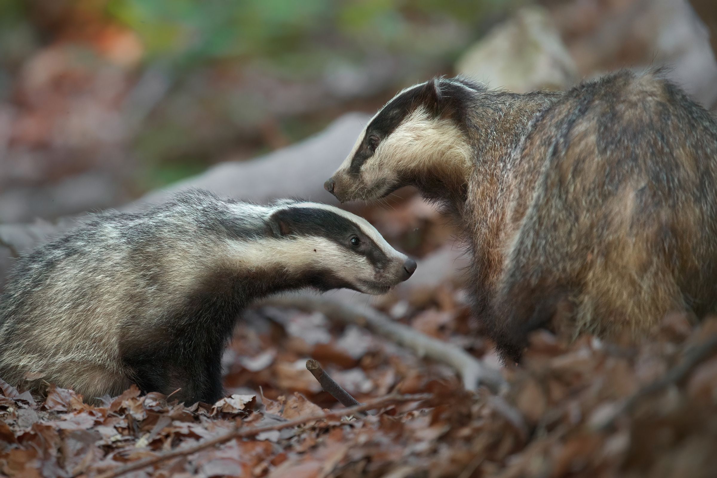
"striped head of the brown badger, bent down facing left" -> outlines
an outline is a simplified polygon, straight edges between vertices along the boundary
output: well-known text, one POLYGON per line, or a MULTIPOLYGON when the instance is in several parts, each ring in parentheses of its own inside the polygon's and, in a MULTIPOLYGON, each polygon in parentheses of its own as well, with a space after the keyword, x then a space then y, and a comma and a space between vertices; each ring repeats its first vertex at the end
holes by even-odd
POLYGON ((462 186, 472 157, 465 112, 483 89, 435 79, 399 92, 369 120, 324 188, 343 202, 380 199, 402 186, 439 197, 446 186, 462 186))

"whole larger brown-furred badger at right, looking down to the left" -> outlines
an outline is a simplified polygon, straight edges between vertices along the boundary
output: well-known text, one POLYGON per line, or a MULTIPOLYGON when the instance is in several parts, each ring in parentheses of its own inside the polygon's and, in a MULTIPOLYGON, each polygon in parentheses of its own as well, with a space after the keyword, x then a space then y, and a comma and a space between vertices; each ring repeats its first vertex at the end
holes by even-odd
POLYGON ((504 358, 554 317, 639 335, 670 310, 716 310, 717 124, 660 70, 563 93, 408 88, 325 187, 348 201, 407 185, 465 229, 475 315, 504 358))

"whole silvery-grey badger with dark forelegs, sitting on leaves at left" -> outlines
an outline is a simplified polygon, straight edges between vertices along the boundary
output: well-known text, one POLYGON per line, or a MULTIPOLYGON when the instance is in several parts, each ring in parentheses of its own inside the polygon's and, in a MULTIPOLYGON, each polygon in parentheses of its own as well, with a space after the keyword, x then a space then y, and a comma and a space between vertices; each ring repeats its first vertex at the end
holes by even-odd
POLYGON ((206 191, 96 216, 19 259, 0 297, 0 378, 87 398, 136 383, 185 403, 223 394, 237 315, 272 292, 383 294, 416 262, 371 224, 324 204, 256 206, 206 191))

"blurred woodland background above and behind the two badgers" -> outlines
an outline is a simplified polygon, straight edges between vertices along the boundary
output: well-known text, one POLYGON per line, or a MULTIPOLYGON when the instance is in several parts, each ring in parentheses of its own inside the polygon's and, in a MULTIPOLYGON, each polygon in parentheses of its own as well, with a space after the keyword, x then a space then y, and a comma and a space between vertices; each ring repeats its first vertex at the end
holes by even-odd
MULTIPOLYGON (((528 91, 666 63, 714 108, 715 4, 0 0, 0 228, 118 207, 228 163, 224 193, 245 196, 231 178, 268 188, 246 199, 304 193, 288 186, 301 182, 315 189, 313 199, 331 202, 320 186, 366 117, 351 117, 328 143, 320 132, 433 75, 528 91), (240 167, 317 133, 322 166, 315 154, 288 149, 275 166, 240 167)), ((416 216, 429 215, 409 207, 403 223, 386 219, 396 234, 396 224, 409 234, 416 216)), ((8 232, 17 230, 0 229, 2 257, 24 248, 8 232)), ((406 234, 413 252, 433 247, 406 234)))

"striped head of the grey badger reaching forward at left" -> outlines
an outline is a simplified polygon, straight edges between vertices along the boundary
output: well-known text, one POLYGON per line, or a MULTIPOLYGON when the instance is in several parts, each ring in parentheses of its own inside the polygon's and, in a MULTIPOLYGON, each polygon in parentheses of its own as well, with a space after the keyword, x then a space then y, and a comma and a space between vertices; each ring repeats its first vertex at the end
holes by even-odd
POLYGON ((416 270, 369 221, 333 206, 282 201, 266 224, 285 272, 318 290, 384 294, 416 270))

